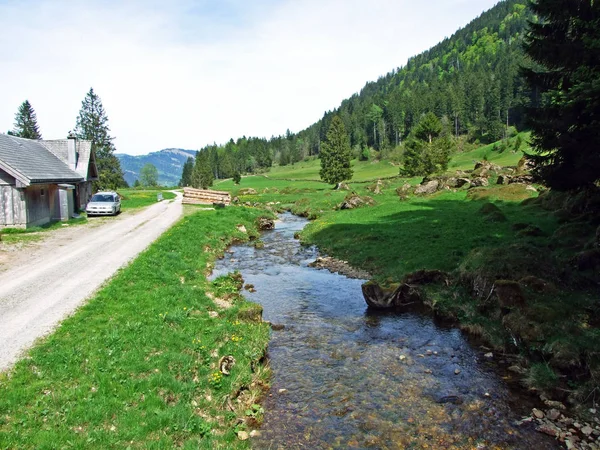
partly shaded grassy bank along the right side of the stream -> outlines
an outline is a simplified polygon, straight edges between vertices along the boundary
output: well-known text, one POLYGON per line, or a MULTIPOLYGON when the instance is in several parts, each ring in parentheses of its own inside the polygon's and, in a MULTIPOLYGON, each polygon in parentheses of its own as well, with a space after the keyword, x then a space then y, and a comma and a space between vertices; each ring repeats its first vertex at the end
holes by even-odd
MULTIPOLYGON (((516 166, 521 154, 482 147, 455 155, 450 172, 472 170, 482 156, 516 166)), ((299 174, 314 175, 306 167, 299 174)), ((412 193, 421 178, 350 182, 349 191, 338 191, 290 181, 293 175, 219 186, 234 195, 253 188, 256 194, 241 195, 241 202, 313 219, 304 243, 366 269, 381 285, 414 284, 417 271, 441 271, 418 287, 421 300, 515 356, 508 360, 526 386, 573 402, 590 401, 600 389, 596 194, 539 195, 525 184, 497 185, 495 175, 488 187, 433 195, 412 193), (339 209, 352 195, 369 205, 339 209)))

